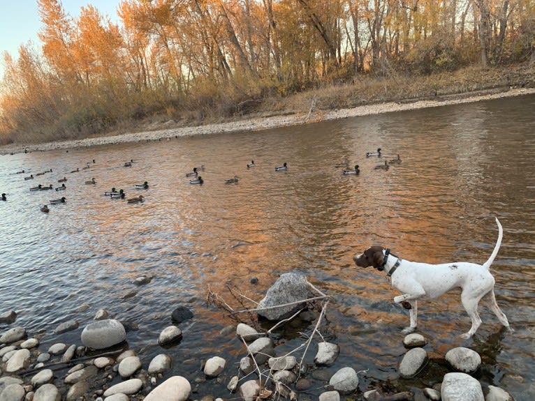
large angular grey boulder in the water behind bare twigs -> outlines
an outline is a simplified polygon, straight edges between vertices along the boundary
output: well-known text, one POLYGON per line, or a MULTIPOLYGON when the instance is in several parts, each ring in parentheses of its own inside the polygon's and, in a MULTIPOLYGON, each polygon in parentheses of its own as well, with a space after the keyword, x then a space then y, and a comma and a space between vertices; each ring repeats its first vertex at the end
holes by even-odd
POLYGON ((281 320, 290 317, 293 313, 302 308, 303 304, 279 306, 286 303, 303 301, 310 298, 309 285, 305 275, 300 273, 284 273, 268 289, 265 297, 258 304, 256 313, 269 320, 281 320))

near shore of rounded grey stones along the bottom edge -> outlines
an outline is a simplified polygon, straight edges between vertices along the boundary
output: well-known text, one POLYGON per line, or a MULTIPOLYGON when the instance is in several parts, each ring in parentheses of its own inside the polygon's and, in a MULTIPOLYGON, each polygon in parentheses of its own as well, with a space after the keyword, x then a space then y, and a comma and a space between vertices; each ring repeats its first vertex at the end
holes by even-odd
MULTIPOLYGON (((277 306, 281 305, 279 297, 292 300, 299 294, 297 298, 302 302, 305 292, 314 296, 309 292, 310 287, 312 285, 304 276, 285 273, 268 290, 261 301, 262 308, 291 314, 295 305, 286 302, 284 308, 280 308, 277 306)), ((326 308, 328 301, 324 301, 323 308, 326 308)), ((300 317, 315 324, 303 347, 281 352, 277 348, 284 344, 284 338, 274 339, 269 332, 257 331, 243 323, 231 325, 223 328, 221 335, 235 335, 243 343, 239 369, 227 363, 225 358, 214 355, 203 361, 202 370, 193 383, 185 377, 171 375, 173 368, 184 363, 173 360, 173 347, 182 339, 182 331, 177 325, 182 319, 193 317, 185 308, 173 312, 176 324, 161 331, 157 340, 161 353, 148 365, 144 365, 138 356, 140 350, 128 348, 124 325, 110 319, 105 310, 98 310, 94 321, 83 328, 80 342, 69 345, 58 341, 46 349, 41 346, 38 335, 30 335, 24 327, 15 325, 15 311, 7 311, 0 315, 0 325, 9 327, 0 335, 0 401, 305 401, 312 399, 312 377, 322 383, 318 395, 320 401, 513 400, 510 394, 495 386, 487 386, 483 391, 474 377, 481 368, 481 356, 464 347, 446 353, 444 364, 450 371, 444 374, 441 384, 421 388, 414 394, 409 391, 385 393, 381 388, 361 391, 359 374, 365 373, 356 372, 351 366, 344 366, 334 374, 321 374, 327 373, 323 368, 335 364, 343 350, 339 345, 325 341, 321 335, 315 335, 324 309, 302 312, 301 307, 297 308, 300 317), (302 349, 305 353, 307 349, 315 352, 313 365, 304 362, 302 349), (212 379, 223 383, 226 391, 219 394, 203 391, 203 384, 212 379)), ((292 317, 295 316, 294 313, 292 317)), ((274 317, 281 321, 283 315, 274 317)), ((54 335, 59 338, 62 333, 77 329, 78 321, 66 321, 54 329, 54 335)), ((412 333, 406 335, 403 345, 406 352, 397 365, 400 377, 411 379, 425 374, 429 361, 427 353, 432 351, 426 349, 427 340, 423 335, 412 333)))

